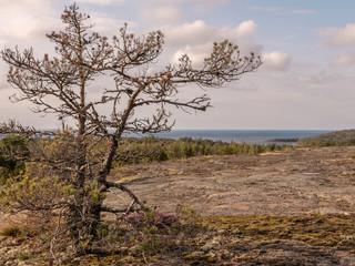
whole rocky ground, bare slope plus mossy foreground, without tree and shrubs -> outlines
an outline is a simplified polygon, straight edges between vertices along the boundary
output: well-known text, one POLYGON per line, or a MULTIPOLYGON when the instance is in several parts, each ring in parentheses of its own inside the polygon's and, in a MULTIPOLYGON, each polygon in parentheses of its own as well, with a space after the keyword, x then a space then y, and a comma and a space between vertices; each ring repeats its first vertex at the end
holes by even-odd
MULTIPOLYGON (((185 244, 187 253, 70 265, 355 265, 355 147, 149 163, 116 170, 111 180, 160 212, 194 206, 216 229, 185 244)), ((105 201, 130 202, 121 192, 105 201)), ((45 265, 39 255, 23 259, 32 242, 0 236, 0 265, 45 265)))

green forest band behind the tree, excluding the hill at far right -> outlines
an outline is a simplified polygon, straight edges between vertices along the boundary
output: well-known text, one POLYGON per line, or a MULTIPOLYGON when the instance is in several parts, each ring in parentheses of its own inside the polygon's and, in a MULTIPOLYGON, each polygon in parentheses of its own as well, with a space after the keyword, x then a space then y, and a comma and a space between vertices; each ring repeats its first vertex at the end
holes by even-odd
MULTIPOLYGON (((65 143, 62 143, 62 139, 38 139, 34 142, 37 145, 45 146, 47 150, 52 149, 55 152, 58 152, 58 142, 61 142, 60 144, 65 146, 65 143)), ((2 181, 9 176, 19 175, 24 171, 27 155, 31 153, 33 145, 30 144, 29 140, 20 136, 8 135, 0 140, 0 175, 2 181), (11 153, 19 154, 19 152, 22 154, 22 160, 18 160, 18 156, 17 158, 11 157, 11 153)), ((63 152, 68 152, 68 149, 70 149, 70 145, 63 152)), ((100 150, 102 147, 98 145, 95 149, 100 150)), ((278 145, 276 143, 267 145, 247 144, 244 142, 226 143, 191 137, 181 137, 179 140, 158 139, 152 135, 145 137, 125 137, 118 147, 116 154, 120 160, 118 160, 114 166, 205 155, 252 155, 285 149, 293 149, 293 146, 290 144, 278 145)))

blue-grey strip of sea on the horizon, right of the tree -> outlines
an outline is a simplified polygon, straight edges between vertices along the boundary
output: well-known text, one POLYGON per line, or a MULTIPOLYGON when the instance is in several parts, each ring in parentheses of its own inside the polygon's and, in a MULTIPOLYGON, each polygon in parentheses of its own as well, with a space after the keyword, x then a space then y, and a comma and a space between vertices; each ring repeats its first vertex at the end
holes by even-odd
POLYGON ((222 142, 245 142, 248 144, 277 143, 294 145, 297 140, 315 136, 331 131, 325 130, 173 130, 158 133, 160 139, 179 140, 181 137, 202 139, 222 142))

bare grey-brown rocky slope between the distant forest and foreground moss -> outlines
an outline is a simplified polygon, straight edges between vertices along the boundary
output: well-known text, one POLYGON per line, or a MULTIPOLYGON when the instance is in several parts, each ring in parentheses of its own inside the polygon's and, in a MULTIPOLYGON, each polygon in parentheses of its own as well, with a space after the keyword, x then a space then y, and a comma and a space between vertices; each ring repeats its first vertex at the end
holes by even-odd
MULTIPOLYGON (((313 147, 201 156, 126 166, 112 177, 164 212, 189 204, 202 215, 347 214, 355 211, 355 147, 313 147)), ((110 194, 108 203, 125 202, 110 194)))

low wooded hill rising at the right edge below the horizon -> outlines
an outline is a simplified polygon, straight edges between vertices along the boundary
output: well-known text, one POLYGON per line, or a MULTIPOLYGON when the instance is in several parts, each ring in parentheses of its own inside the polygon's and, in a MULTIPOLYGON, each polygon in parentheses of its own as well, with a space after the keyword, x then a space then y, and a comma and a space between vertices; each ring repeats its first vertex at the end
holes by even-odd
POLYGON ((355 130, 344 130, 305 137, 297 141, 297 147, 312 146, 353 146, 355 145, 355 130))

